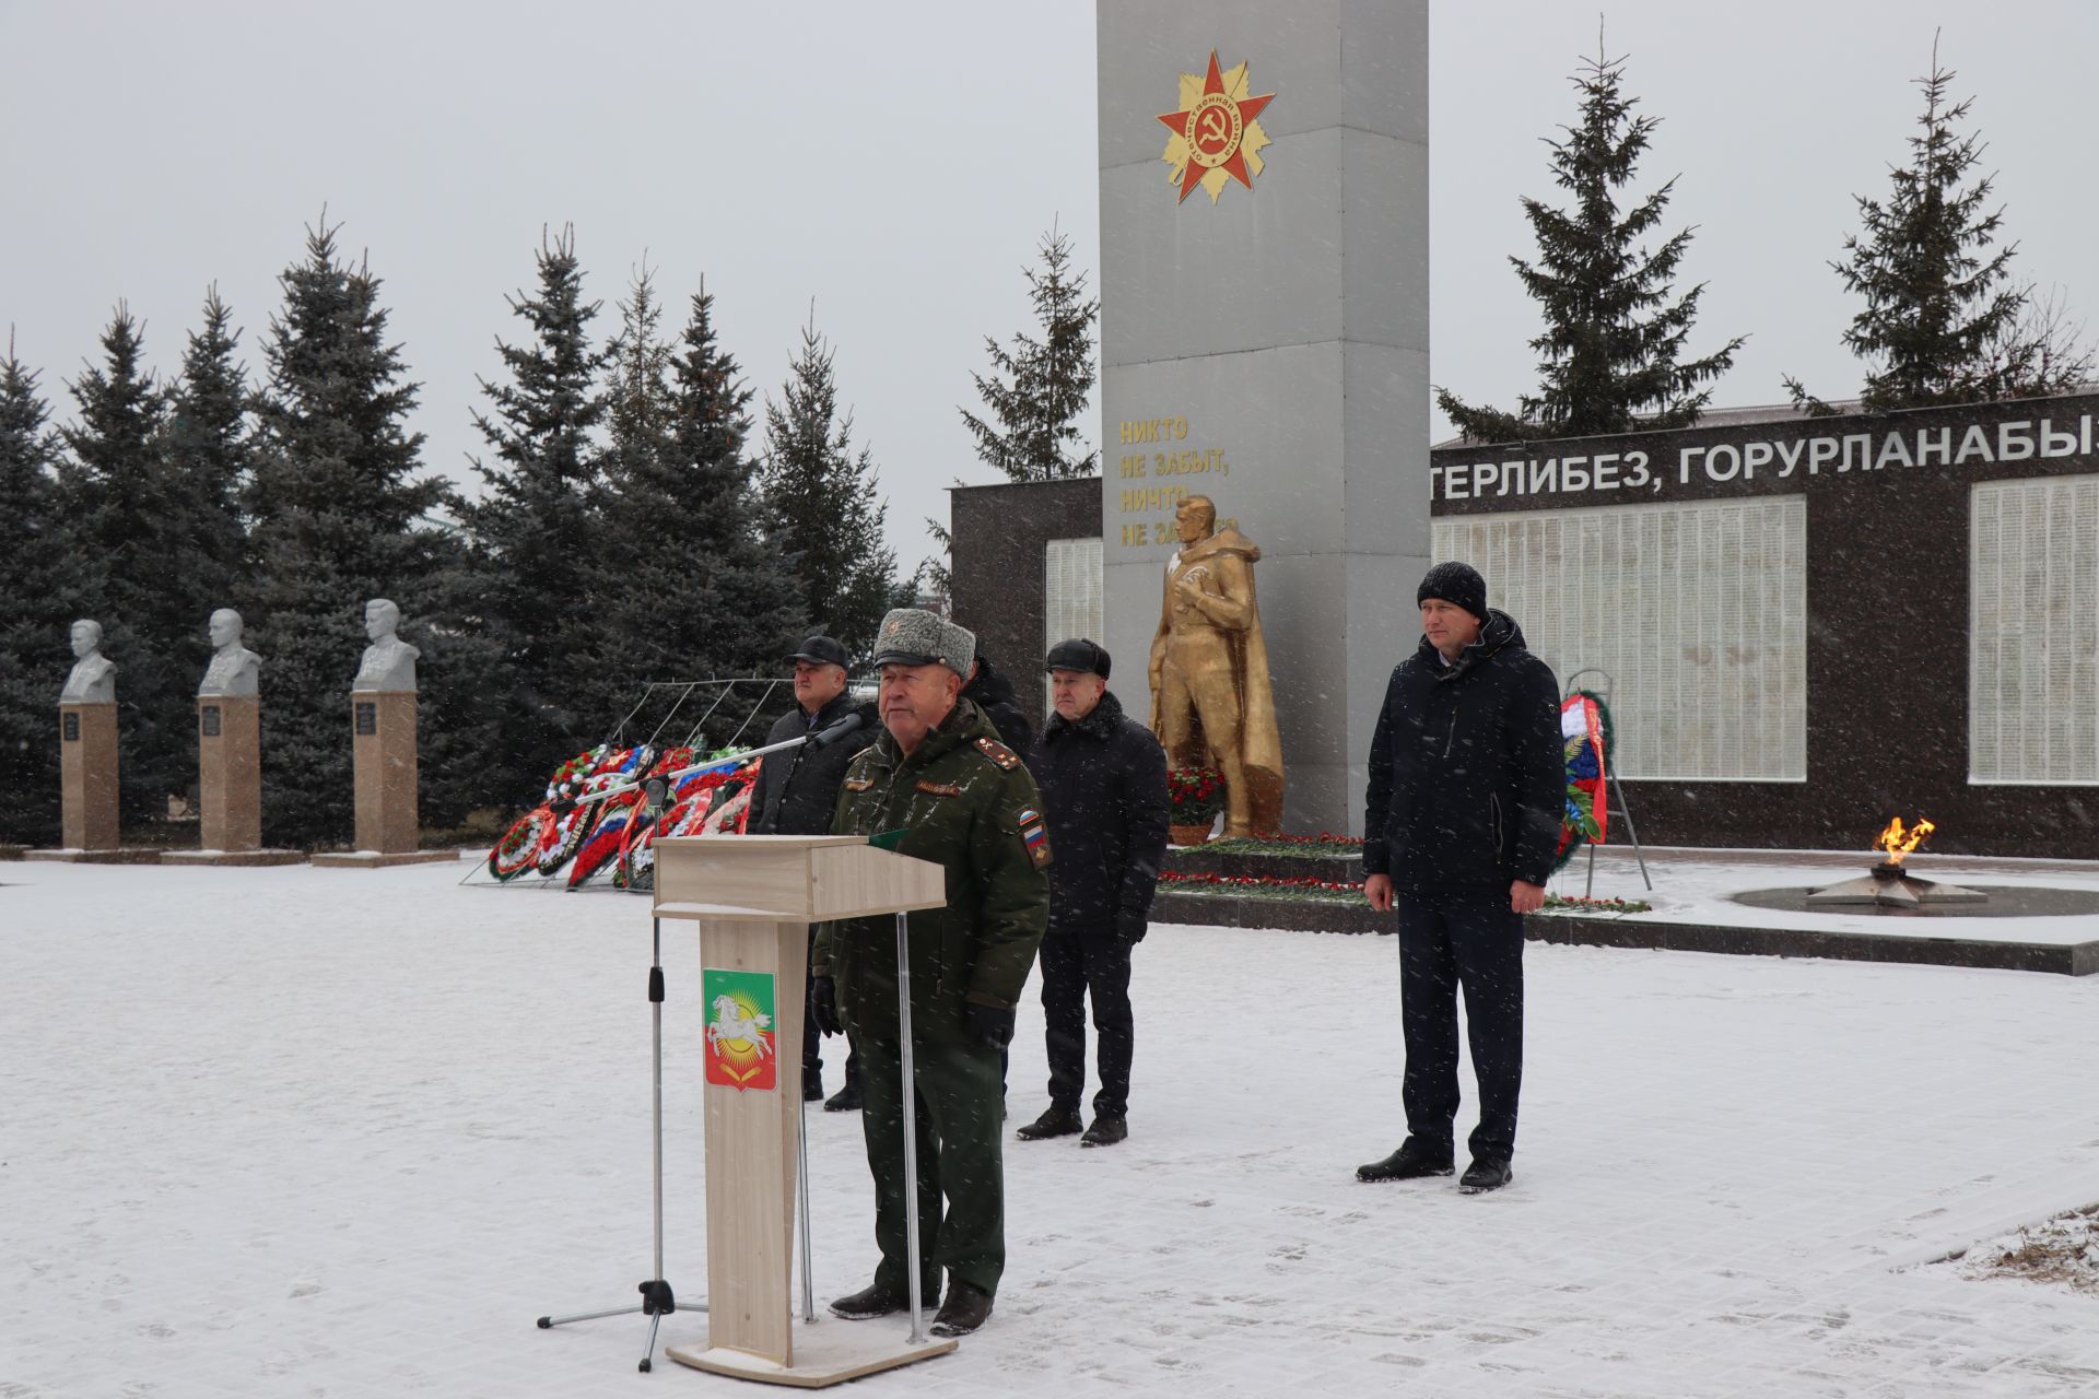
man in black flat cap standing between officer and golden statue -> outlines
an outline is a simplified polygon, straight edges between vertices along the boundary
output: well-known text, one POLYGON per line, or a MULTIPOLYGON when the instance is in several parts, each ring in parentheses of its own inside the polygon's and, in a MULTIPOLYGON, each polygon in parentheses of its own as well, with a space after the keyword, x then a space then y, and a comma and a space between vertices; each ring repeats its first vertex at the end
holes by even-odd
POLYGON ((1085 1000, 1100 1032, 1100 1091, 1083 1147, 1129 1137, 1129 952, 1144 925, 1167 854, 1167 755, 1150 730, 1108 694, 1106 648, 1070 640, 1045 661, 1056 715, 1029 768, 1062 856, 1050 868, 1050 931, 1043 935, 1043 1021, 1050 1110, 1020 1128, 1022 1141, 1068 1137, 1085 1091, 1085 1000))

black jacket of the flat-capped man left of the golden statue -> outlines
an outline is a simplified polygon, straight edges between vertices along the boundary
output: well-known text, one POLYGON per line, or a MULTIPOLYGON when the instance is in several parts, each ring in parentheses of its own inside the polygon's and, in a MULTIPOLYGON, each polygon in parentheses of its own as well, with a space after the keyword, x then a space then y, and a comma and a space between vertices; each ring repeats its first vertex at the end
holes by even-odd
POLYGON ((1058 862, 1050 921, 1144 935, 1167 856, 1167 755, 1115 694, 1070 724, 1052 715, 1029 755, 1058 862))

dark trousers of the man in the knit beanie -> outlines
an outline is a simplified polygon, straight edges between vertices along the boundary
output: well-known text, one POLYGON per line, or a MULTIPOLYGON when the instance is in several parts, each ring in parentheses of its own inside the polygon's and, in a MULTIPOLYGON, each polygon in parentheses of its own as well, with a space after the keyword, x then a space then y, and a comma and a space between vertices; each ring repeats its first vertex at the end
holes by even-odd
POLYGON ((1471 1154, 1515 1154, 1515 1095, 1524 1080, 1524 919, 1507 889, 1402 894, 1400 1017, 1406 1032, 1406 1133, 1450 1149, 1457 1120, 1457 992, 1480 1078, 1471 1154))

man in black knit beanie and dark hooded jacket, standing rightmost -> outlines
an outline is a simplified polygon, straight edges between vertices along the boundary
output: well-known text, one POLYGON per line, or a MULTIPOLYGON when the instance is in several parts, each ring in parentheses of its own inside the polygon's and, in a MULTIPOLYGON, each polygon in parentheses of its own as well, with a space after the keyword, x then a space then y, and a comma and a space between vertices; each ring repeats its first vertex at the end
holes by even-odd
POLYGON ((1371 738, 1364 894, 1400 910, 1406 1141, 1360 1181, 1450 1175, 1457 990, 1480 1126, 1461 1189, 1509 1183, 1524 1072, 1524 914, 1545 906, 1566 810, 1560 688, 1467 564, 1421 579, 1421 644, 1392 671, 1371 738))

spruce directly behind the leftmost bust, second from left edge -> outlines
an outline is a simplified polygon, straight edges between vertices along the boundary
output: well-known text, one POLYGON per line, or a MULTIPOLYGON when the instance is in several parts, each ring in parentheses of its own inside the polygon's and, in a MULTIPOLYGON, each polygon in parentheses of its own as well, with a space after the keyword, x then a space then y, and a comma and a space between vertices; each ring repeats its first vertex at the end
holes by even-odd
POLYGON ((103 363, 69 384, 61 499, 88 581, 86 615, 118 663, 118 808, 124 824, 166 820, 197 778, 195 677, 210 646, 183 606, 191 535, 183 482, 162 455, 168 396, 145 367, 145 327, 118 302, 103 363), (185 684, 187 682, 187 684, 185 684))

